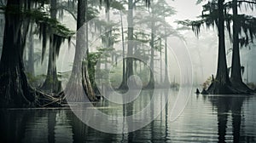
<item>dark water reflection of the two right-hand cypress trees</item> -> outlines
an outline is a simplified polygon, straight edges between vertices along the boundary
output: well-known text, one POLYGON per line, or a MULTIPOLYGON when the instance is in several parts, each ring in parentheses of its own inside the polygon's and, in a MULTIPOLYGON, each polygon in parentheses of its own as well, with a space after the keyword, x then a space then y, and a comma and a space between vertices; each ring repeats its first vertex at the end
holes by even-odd
POLYGON ((218 142, 225 141, 228 113, 231 112, 232 117, 232 135, 233 142, 244 142, 246 138, 241 138, 241 106, 247 97, 233 96, 213 96, 210 97, 212 105, 217 108, 218 112, 218 142))

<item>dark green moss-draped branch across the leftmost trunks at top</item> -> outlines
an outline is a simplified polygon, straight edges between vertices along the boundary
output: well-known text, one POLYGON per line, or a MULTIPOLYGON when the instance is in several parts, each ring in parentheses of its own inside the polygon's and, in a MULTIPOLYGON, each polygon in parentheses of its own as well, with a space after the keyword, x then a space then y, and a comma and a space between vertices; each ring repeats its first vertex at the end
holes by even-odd
MULTIPOLYGON (((20 1, 20 5, 1 7, 5 14, 19 15, 20 20, 22 20, 21 23, 24 25, 24 27, 26 27, 27 23, 37 24, 38 31, 36 31, 36 34, 38 34, 40 39, 42 39, 43 45, 42 61, 44 60, 46 44, 47 41, 49 41, 50 35, 53 35, 52 42, 56 50, 55 53, 58 55, 61 48, 61 43, 63 43, 65 39, 70 41, 70 38, 74 34, 74 31, 70 31, 66 26, 62 26, 59 21, 49 17, 48 11, 45 11, 44 8, 44 4, 46 3, 49 3, 49 1, 20 1), (35 3, 35 5, 32 7, 33 3, 35 3)), ((24 36, 26 37, 26 34, 24 36)))

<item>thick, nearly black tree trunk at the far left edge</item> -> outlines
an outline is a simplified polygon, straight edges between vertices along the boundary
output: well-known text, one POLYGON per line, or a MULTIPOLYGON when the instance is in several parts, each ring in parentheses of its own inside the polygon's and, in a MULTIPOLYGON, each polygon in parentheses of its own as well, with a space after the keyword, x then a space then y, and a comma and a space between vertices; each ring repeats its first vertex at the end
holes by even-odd
POLYGON ((35 100, 27 83, 22 58, 20 14, 9 10, 14 5, 19 11, 19 0, 8 1, 6 7, 3 53, 0 62, 0 105, 4 107, 28 106, 35 100))

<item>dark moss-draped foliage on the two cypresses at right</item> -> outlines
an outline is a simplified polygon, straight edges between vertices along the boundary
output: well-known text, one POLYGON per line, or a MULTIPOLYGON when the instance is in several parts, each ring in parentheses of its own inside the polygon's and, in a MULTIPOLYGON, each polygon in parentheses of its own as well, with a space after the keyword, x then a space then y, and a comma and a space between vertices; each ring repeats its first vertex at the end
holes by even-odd
MULTIPOLYGON (((245 3, 244 1, 239 2, 237 5, 241 7, 241 3, 245 3)), ((232 8, 232 2, 228 2, 224 4, 224 20, 226 23, 226 28, 231 36, 231 21, 233 20, 233 15, 228 14, 228 10, 232 8)), ((249 3, 247 7, 253 9, 256 6, 256 3, 249 3)), ((208 2, 207 4, 203 5, 203 10, 201 16, 199 16, 201 20, 183 20, 178 21, 178 24, 182 24, 184 26, 191 26, 192 31, 195 31, 195 35, 198 36, 201 26, 206 25, 207 28, 214 27, 218 25, 218 3, 216 1, 208 2)), ((249 43, 249 39, 253 40, 255 36, 256 30, 256 19, 253 16, 239 14, 237 16, 237 21, 239 21, 239 27, 241 28, 244 34, 246 35, 241 39, 241 45, 246 45, 249 43)))

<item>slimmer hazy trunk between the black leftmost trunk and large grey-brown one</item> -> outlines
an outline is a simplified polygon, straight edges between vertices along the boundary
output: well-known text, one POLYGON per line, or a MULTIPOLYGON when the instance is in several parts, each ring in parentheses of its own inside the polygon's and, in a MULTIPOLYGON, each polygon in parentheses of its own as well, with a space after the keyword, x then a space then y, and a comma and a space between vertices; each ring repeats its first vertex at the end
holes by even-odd
MULTIPOLYGON (((50 17, 56 19, 57 2, 50 1, 50 17)), ((41 89, 49 91, 50 93, 58 93, 61 91, 61 82, 58 80, 56 69, 56 47, 54 45, 55 36, 51 34, 49 40, 49 60, 47 76, 41 89)))

